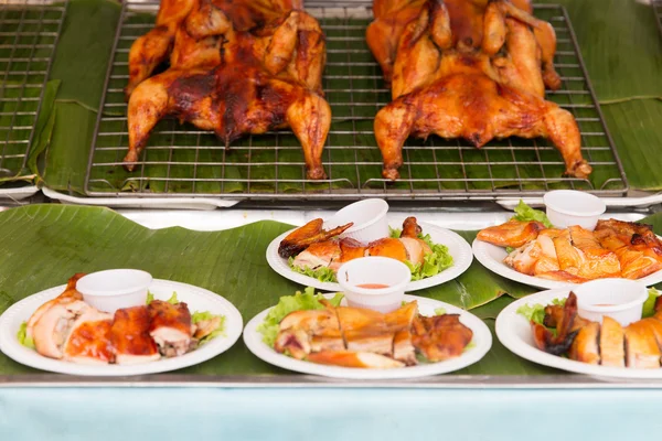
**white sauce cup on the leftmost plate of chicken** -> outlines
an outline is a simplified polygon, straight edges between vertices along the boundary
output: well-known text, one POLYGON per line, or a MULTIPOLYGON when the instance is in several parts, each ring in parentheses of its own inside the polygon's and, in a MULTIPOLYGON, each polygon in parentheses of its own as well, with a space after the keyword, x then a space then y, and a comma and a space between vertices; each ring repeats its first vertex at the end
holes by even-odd
POLYGON ((76 290, 86 303, 114 314, 122 308, 143 305, 151 282, 151 275, 139 269, 109 269, 83 276, 76 290))

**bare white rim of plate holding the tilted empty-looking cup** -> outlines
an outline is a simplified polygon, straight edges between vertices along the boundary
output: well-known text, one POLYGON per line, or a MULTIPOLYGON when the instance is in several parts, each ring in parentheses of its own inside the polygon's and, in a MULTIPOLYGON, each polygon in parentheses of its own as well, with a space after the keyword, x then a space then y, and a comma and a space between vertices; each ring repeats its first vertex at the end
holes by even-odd
MULTIPOLYGON (((424 234, 430 235, 433 243, 446 245, 448 247, 448 252, 450 252, 452 256, 452 267, 445 269, 437 276, 410 282, 407 284, 407 288, 405 289, 406 291, 417 291, 425 288, 436 287, 437 284, 452 280, 462 272, 467 271, 467 269, 469 269, 471 266, 471 260, 473 259, 471 246, 457 233, 431 224, 419 223, 419 225, 423 227, 424 234)), ((287 259, 284 259, 278 255, 278 246, 280 245, 280 241, 293 230, 295 229, 290 229, 289 232, 281 234, 269 244, 269 247, 267 248, 267 262, 269 262, 271 269, 286 279, 290 279, 306 287, 313 287, 323 291, 341 291, 342 289, 340 288, 340 284, 335 282, 321 282, 316 278, 292 271, 287 262, 287 259)))

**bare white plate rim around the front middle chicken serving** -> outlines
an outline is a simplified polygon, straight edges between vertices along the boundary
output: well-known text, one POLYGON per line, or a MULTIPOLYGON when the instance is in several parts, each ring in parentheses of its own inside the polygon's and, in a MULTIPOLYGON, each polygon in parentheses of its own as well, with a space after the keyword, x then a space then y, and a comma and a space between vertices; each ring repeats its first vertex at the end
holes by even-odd
MULTIPOLYGON (((333 294, 327 294, 327 297, 332 298, 333 294)), ((476 315, 438 300, 417 295, 405 295, 405 301, 410 302, 413 300, 418 301, 418 310, 423 315, 434 315, 435 310, 438 308, 444 308, 449 314, 460 314, 460 322, 473 331, 473 347, 467 349, 457 358, 426 365, 398 367, 394 369, 362 369, 353 367, 319 365, 279 354, 274 351, 273 347, 269 347, 263 342, 263 335, 257 332, 257 326, 264 322, 265 316, 268 314, 270 308, 260 312, 248 322, 246 329, 244 330, 244 343, 246 343, 248 349, 258 358, 261 358, 274 366, 303 374, 346 379, 402 379, 446 374, 472 365, 473 363, 480 361, 488 353, 488 351, 490 351, 490 347, 492 346, 492 334, 490 333, 488 326, 476 315)))

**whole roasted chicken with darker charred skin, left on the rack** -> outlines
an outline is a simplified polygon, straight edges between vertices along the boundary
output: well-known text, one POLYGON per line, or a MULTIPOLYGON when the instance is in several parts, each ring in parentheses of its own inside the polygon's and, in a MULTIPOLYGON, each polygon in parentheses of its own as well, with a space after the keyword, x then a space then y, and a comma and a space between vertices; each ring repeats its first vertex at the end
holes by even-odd
POLYGON ((156 28, 129 53, 127 169, 154 125, 171 115, 214 131, 226 147, 245 133, 291 128, 307 176, 324 179, 325 42, 301 8, 289 0, 163 0, 156 28), (150 77, 167 60, 169 68, 150 77))

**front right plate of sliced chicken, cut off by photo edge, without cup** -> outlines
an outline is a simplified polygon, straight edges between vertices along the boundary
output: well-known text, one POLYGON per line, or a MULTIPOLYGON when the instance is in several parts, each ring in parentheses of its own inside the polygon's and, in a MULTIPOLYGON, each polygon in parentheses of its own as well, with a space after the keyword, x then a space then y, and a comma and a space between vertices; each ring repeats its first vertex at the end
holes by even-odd
POLYGON ((662 302, 626 326, 607 315, 601 323, 588 320, 577 303, 568 289, 520 299, 496 318, 496 336, 541 365, 601 377, 662 378, 662 302))

